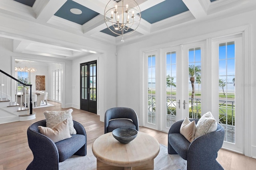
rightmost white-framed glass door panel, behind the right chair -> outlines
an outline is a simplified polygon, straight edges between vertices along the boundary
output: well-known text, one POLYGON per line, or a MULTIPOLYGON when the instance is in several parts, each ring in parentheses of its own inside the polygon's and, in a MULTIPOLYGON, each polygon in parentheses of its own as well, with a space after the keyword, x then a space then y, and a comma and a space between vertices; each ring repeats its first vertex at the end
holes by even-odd
POLYGON ((218 113, 218 123, 224 127, 223 147, 243 153, 242 121, 242 35, 221 38, 213 43, 214 66, 218 76, 214 77, 214 111, 218 113), (236 78, 239 77, 239 78, 236 78), (218 88, 217 88, 218 86, 218 88), (216 103, 217 103, 216 102, 216 103), (217 107, 218 106, 218 107, 217 107))

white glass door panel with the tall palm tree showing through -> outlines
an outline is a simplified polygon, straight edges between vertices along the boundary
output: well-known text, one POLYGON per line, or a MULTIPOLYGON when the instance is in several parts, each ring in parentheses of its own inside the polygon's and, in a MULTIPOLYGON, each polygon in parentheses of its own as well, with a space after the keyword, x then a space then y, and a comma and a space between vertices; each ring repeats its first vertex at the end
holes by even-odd
MULTIPOLYGON (((190 43, 184 45, 184 74, 183 80, 187 82, 184 84, 183 95, 182 95, 182 107, 183 114, 182 119, 188 117, 190 119, 200 119, 202 113, 202 99, 206 99, 206 96, 210 96, 211 90, 202 91, 203 87, 206 85, 206 80, 210 76, 203 76, 206 74, 206 58, 205 55, 206 41, 199 41, 196 43, 190 43), (204 92, 208 92, 206 94, 204 92)), ((207 100, 205 100, 207 101, 207 100)), ((209 111, 206 109, 205 113, 209 111)))

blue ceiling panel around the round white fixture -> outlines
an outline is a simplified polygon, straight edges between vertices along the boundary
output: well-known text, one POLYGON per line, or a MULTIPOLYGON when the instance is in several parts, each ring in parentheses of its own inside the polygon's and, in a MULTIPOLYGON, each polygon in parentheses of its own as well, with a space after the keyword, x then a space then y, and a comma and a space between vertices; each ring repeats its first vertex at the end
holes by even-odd
POLYGON ((84 23, 92 20, 92 18, 98 16, 99 13, 90 10, 89 8, 86 8, 85 6, 82 6, 72 0, 67 0, 67 2, 65 2, 65 4, 63 4, 63 6, 54 15, 83 25, 84 23), (70 9, 72 8, 81 10, 82 14, 73 14, 70 12, 70 9))

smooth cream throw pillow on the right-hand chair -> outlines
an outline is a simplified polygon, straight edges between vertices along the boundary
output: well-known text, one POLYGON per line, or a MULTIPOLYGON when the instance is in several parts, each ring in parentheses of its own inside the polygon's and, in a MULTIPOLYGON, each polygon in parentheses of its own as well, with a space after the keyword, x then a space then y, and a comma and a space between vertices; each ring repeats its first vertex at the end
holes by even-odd
POLYGON ((182 134, 190 143, 194 140, 196 133, 196 123, 186 117, 180 126, 180 134, 182 134))

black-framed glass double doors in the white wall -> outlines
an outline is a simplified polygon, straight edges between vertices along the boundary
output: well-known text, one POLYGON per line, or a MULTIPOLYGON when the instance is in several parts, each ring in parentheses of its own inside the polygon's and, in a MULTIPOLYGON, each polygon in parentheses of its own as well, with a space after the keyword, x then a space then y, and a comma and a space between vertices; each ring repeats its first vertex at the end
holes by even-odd
POLYGON ((80 108, 97 114, 97 61, 80 64, 80 108))

